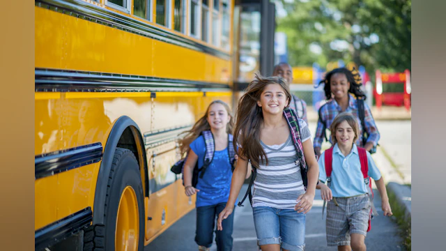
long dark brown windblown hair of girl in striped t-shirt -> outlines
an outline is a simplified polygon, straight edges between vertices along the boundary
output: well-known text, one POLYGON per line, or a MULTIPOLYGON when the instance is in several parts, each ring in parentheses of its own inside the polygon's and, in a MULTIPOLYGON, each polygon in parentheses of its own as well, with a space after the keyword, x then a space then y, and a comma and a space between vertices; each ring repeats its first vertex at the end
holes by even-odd
POLYGON ((268 84, 280 84, 285 91, 289 106, 291 102, 291 92, 289 86, 282 77, 262 77, 259 74, 255 75, 255 79, 249 83, 245 94, 238 100, 238 109, 236 114, 236 130, 234 130, 234 149, 237 149, 237 144, 241 147, 238 151, 238 156, 245 160, 251 160, 251 164, 258 168, 259 158, 266 160, 268 165, 268 158, 263 151, 260 144, 260 127, 263 122, 263 113, 261 107, 257 105, 261 94, 268 84))

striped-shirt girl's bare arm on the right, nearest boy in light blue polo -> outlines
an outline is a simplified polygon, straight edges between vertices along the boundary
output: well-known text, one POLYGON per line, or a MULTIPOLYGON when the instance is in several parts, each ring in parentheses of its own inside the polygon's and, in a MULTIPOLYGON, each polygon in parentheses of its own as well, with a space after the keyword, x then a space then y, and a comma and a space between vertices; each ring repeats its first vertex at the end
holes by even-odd
POLYGON ((316 155, 314 155, 314 149, 311 140, 307 140, 302 143, 302 147, 304 150, 305 160, 308 165, 308 184, 307 191, 304 195, 300 195, 298 197, 298 204, 294 207, 296 211, 299 213, 308 213, 308 211, 313 206, 314 194, 316 193, 316 184, 318 183, 319 178, 319 165, 316 161, 316 155))

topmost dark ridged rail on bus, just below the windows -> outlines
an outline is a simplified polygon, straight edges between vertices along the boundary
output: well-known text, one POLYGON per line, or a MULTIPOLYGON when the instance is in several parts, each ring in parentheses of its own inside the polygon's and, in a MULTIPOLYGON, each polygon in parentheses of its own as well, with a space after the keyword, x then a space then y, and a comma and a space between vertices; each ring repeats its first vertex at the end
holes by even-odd
POLYGON ((41 8, 47 8, 59 13, 71 15, 82 20, 87 20, 97 24, 128 31, 139 36, 160 40, 162 42, 171 43, 198 52, 203 52, 213 56, 217 56, 224 60, 230 60, 228 53, 215 50, 206 45, 202 45, 188 38, 178 36, 175 33, 165 31, 151 24, 146 24, 132 17, 115 13, 112 10, 95 6, 92 3, 79 0, 36 0, 35 5, 41 8))

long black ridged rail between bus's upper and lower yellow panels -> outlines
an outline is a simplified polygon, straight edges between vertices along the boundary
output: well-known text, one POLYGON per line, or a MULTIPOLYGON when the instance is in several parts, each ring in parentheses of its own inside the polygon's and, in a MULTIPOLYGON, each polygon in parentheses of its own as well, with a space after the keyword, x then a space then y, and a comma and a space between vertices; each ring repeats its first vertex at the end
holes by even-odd
POLYGON ((36 68, 35 89, 36 91, 203 91, 206 89, 228 91, 229 85, 139 75, 36 68))

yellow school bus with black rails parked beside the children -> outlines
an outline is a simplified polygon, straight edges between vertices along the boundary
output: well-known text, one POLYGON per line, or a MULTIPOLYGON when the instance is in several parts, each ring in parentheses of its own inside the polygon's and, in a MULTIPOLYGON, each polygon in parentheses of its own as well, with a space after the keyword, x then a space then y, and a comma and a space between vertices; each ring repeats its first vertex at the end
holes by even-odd
POLYGON ((36 250, 144 250, 194 208, 170 167, 234 102, 238 5, 35 1, 36 250))

